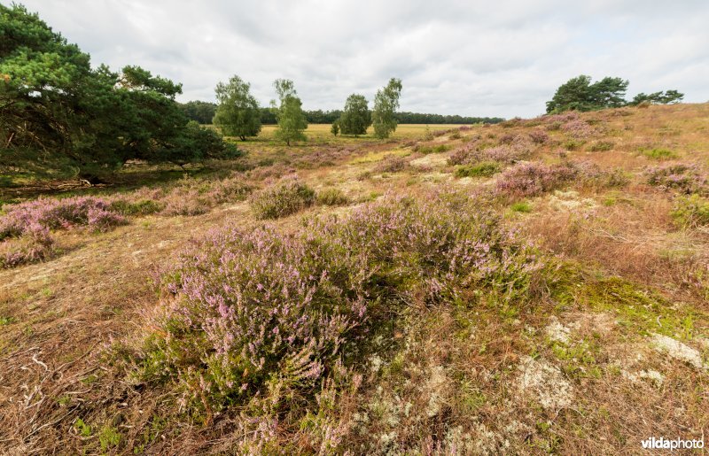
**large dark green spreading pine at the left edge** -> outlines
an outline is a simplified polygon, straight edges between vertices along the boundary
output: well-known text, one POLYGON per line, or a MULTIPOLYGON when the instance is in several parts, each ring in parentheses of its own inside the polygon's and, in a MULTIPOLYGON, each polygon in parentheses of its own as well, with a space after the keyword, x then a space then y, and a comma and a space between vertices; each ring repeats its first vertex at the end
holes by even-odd
POLYGON ((90 176, 131 159, 237 153, 188 128, 175 102, 181 84, 139 66, 92 69, 88 54, 24 6, 0 4, 0 17, 0 167, 90 176))

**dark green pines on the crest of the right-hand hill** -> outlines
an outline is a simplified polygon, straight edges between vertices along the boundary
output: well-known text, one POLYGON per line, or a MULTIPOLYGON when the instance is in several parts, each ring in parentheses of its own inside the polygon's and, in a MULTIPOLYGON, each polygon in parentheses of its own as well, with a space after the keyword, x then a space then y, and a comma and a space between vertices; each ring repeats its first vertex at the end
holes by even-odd
POLYGON ((559 86, 554 97, 547 102, 547 113, 565 111, 596 111, 638 104, 679 103, 684 94, 677 90, 666 90, 651 94, 639 93, 632 100, 626 100, 629 81, 607 76, 596 82, 581 74, 559 86))

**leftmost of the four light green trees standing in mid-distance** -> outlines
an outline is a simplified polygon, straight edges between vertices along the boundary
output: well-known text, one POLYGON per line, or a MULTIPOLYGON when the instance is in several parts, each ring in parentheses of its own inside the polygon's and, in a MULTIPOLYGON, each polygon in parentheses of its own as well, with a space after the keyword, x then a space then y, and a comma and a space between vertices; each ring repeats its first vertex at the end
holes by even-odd
POLYGON ((250 89, 251 84, 236 75, 229 82, 216 85, 214 92, 219 106, 214 114, 214 125, 222 129, 223 135, 238 136, 245 141, 246 136, 255 136, 261 131, 259 103, 250 89))

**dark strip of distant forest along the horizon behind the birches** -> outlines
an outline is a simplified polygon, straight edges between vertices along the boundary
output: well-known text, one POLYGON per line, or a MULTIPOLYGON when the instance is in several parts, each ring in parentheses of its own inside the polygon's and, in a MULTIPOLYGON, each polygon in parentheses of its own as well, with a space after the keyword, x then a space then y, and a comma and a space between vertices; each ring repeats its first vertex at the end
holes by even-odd
MULTIPOLYGON (((211 124, 217 104, 206 101, 190 101, 180 104, 184 113, 190 120, 200 124, 211 124)), ((305 111, 308 123, 331 124, 338 120, 342 111, 305 111)), ((423 114, 419 112, 395 112, 394 117, 402 124, 473 124, 473 123, 499 123, 504 119, 499 117, 464 117, 459 115, 423 114)), ((276 114, 269 108, 261 108, 261 123, 276 125, 276 114)))

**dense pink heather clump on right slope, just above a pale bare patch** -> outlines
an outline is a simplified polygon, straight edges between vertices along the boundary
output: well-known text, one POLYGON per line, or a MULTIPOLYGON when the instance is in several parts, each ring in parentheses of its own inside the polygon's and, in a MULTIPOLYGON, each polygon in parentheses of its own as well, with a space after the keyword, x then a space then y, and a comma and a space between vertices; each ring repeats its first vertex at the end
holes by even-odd
POLYGON ((519 163, 503 172, 495 191, 506 197, 535 197, 572 181, 577 173, 577 169, 568 164, 519 163))

